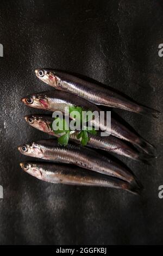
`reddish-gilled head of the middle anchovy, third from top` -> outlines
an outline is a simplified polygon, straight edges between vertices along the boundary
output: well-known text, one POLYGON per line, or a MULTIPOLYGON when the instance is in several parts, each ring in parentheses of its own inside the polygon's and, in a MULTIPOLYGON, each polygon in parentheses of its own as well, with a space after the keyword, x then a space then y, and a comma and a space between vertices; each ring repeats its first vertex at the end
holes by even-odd
POLYGON ((47 120, 47 118, 43 115, 26 115, 24 118, 29 125, 35 127, 36 129, 46 133, 52 132, 50 127, 51 121, 47 120))

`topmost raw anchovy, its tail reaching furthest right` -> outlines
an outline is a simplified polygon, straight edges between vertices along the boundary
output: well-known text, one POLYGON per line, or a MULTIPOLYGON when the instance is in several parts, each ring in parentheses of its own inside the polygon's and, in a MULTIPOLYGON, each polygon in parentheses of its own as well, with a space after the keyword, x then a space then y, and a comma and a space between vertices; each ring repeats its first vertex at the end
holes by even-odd
POLYGON ((152 114, 153 117, 158 118, 159 111, 155 109, 141 106, 113 92, 111 89, 104 88, 96 83, 87 82, 63 71, 36 69, 35 74, 40 80, 49 84, 49 86, 78 95, 96 105, 121 108, 144 115, 152 114))

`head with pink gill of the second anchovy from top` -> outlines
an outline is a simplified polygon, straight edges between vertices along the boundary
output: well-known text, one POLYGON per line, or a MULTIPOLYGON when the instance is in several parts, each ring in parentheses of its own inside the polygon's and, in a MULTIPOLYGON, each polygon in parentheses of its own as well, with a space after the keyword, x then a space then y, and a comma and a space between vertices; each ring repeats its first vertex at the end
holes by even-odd
POLYGON ((21 101, 29 106, 34 108, 48 109, 49 103, 46 95, 43 94, 31 94, 26 97, 23 97, 21 101))

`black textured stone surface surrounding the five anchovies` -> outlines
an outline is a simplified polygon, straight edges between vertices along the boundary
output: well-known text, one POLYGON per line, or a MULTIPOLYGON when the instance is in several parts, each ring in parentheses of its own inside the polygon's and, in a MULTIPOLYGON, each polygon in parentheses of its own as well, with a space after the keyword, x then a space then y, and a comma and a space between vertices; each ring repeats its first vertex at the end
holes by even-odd
POLYGON ((163 6, 156 0, 0 2, 1 169, 0 244, 151 245, 163 242, 162 115, 150 119, 121 110, 158 159, 145 166, 123 159, 145 186, 141 197, 109 188, 53 185, 24 173, 17 145, 48 138, 28 126, 30 92, 52 90, 37 67, 76 72, 161 111, 163 6))

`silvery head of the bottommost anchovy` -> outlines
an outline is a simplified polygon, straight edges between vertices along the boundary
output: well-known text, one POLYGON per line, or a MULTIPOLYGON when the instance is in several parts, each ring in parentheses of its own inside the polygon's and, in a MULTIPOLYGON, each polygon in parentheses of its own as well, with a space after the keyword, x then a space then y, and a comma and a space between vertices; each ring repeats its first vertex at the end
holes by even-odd
POLYGON ((27 172, 30 175, 35 176, 37 179, 42 178, 41 169, 35 163, 23 162, 23 163, 20 163, 20 166, 24 170, 24 172, 27 172))

